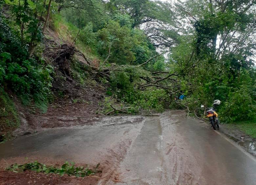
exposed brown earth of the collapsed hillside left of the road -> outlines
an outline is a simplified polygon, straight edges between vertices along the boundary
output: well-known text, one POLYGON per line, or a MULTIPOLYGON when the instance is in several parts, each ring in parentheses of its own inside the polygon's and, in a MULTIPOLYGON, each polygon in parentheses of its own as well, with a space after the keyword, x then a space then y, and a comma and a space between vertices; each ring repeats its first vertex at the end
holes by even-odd
MULTIPOLYGON (((36 107, 33 102, 24 105, 19 97, 8 91, 10 103, 13 101, 19 117, 18 125, 2 125, 1 135, 8 138, 44 128, 90 124, 100 119, 96 113, 102 110, 99 102, 104 99, 106 87, 88 71, 80 69, 88 63, 74 44, 60 39, 56 32, 48 29, 40 47, 44 60, 55 71, 52 76, 53 101, 46 108, 36 107), (60 56, 54 55, 59 51, 64 52, 59 53, 60 56)), ((5 93, 7 97, 8 94, 5 93)), ((10 112, 9 117, 13 117, 13 113, 10 112)), ((1 116, 1 121, 5 120, 1 116)))

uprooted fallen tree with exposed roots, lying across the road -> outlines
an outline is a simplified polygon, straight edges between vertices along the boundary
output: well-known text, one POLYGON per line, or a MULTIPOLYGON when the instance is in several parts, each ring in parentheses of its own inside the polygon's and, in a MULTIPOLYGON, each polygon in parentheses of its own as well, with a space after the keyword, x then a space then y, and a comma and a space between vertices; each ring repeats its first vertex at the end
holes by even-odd
MULTIPOLYGON (((176 94, 181 91, 180 81, 178 73, 169 73, 168 71, 148 71, 146 70, 143 65, 146 63, 143 63, 142 65, 117 65, 117 64, 111 64, 109 67, 104 67, 107 65, 101 65, 99 67, 96 67, 93 65, 93 62, 85 56, 83 52, 75 48, 74 45, 60 45, 60 46, 54 46, 54 47, 46 47, 45 53, 47 58, 50 59, 50 62, 54 63, 56 66, 56 71, 61 71, 61 73, 64 76, 67 76, 67 79, 72 80, 72 63, 75 53, 82 56, 84 60, 76 60, 76 62, 80 63, 80 66, 82 70, 85 72, 89 72, 92 77, 100 81, 100 79, 104 78, 107 80, 107 82, 111 85, 113 82, 116 83, 122 83, 124 79, 115 79, 116 76, 119 74, 127 74, 129 75, 129 83, 133 85, 133 90, 136 92, 149 92, 154 91, 157 89, 163 89, 166 94, 168 94, 167 97, 164 99, 158 98, 159 102, 162 102, 164 104, 170 104, 170 100, 172 100, 173 94, 176 94)), ((163 53, 161 53, 163 54, 163 53)), ((159 55, 161 55, 159 54, 159 55)), ((157 56, 159 56, 157 55, 157 56)), ((155 56, 156 57, 156 56, 155 56)), ((152 60, 154 57, 152 57, 149 60, 152 60)), ((149 62, 147 60, 146 62, 149 62)), ((128 92, 125 89, 120 88, 121 91, 123 91, 123 94, 127 94, 128 92)), ((118 91, 118 90, 117 90, 118 91)), ((142 93, 143 94, 143 93, 142 93)), ((123 95, 124 96, 124 95, 123 95)), ((123 114, 134 114, 131 113, 128 110, 121 110, 113 105, 111 105, 111 108, 113 109, 110 112, 107 112, 106 115, 114 114, 114 113, 123 113, 123 114)), ((150 114, 152 115, 152 114, 150 114)))

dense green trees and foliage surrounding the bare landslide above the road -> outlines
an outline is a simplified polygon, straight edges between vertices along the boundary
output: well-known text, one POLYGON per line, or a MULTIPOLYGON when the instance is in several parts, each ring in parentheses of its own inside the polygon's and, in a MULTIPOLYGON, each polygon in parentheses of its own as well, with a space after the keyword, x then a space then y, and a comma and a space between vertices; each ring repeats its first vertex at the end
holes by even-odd
POLYGON ((46 109, 54 70, 42 57, 40 43, 50 27, 99 61, 95 71, 110 84, 107 94, 129 103, 129 112, 186 108, 202 114, 201 104, 219 99, 223 120, 255 120, 255 4, 4 0, 1 88, 46 109), (180 93, 186 99, 174 101, 180 93))

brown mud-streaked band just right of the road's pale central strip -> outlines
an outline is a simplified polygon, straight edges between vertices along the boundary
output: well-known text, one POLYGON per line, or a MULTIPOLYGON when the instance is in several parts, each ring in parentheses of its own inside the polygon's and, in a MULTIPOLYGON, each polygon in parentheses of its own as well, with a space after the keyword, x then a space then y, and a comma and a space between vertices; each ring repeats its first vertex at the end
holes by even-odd
POLYGON ((186 118, 185 112, 182 111, 167 111, 160 116, 165 149, 164 161, 169 175, 166 185, 196 185, 198 179, 195 176, 200 176, 200 169, 193 170, 195 158, 190 155, 188 145, 177 130, 182 117, 186 118))

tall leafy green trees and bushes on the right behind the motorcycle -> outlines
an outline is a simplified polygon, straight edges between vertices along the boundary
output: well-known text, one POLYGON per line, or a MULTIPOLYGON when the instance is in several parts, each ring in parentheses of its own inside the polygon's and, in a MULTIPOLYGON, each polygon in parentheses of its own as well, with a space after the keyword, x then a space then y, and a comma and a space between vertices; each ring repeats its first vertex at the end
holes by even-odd
POLYGON ((255 36, 246 36, 253 35, 255 9, 245 8, 244 3, 186 0, 176 4, 193 19, 170 55, 171 71, 184 75, 179 78, 187 95, 182 104, 198 111, 201 104, 211 107, 214 100, 221 100, 222 122, 254 120, 256 114, 255 36))

